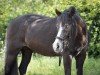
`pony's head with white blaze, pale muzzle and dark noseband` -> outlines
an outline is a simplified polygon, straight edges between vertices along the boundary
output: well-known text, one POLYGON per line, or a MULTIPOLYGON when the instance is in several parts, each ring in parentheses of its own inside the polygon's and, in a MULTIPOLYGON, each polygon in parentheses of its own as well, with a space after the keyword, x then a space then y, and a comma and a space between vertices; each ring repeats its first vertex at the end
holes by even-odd
POLYGON ((53 43, 53 49, 56 53, 62 52, 65 48, 73 47, 72 41, 75 37, 75 20, 73 16, 75 15, 76 10, 74 7, 70 7, 64 12, 56 10, 57 16, 57 29, 58 33, 56 39, 53 43))

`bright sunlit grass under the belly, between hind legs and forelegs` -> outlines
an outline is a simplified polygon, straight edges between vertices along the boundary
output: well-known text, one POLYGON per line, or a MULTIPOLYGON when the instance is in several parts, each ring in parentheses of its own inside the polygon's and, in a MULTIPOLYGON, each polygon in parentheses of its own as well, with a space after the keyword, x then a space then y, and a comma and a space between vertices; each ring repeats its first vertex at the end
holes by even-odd
POLYGON ((63 75, 63 66, 59 67, 58 58, 32 58, 27 74, 29 75, 63 75), (33 67, 31 67, 33 66, 33 67))

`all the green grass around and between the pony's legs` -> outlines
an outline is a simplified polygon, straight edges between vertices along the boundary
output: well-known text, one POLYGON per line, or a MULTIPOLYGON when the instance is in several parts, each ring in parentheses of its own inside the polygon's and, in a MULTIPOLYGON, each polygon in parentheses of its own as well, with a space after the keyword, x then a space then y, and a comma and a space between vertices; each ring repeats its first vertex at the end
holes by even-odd
MULTIPOLYGON (((3 75, 3 61, 3 58, 0 59, 0 75, 3 75)), ((63 62, 61 66, 58 66, 58 61, 58 57, 32 57, 26 75, 64 75, 63 62)), ((72 62, 72 75, 76 75, 74 59, 72 62)), ((87 57, 84 64, 84 75, 100 75, 100 59, 87 57)))

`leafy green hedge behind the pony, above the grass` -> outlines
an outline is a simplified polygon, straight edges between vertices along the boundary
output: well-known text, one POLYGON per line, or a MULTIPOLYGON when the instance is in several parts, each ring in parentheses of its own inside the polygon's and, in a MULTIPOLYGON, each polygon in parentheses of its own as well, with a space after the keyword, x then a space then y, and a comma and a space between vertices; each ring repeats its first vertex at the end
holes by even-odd
POLYGON ((75 6, 86 21, 90 34, 88 55, 100 56, 100 0, 0 0, 0 52, 5 43, 9 22, 17 16, 33 13, 55 17, 60 11, 75 6))

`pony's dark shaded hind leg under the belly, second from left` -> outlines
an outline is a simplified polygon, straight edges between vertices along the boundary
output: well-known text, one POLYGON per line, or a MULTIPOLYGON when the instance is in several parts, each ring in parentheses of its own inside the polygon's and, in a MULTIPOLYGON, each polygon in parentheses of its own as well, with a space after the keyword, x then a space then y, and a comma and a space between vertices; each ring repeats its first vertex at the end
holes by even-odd
POLYGON ((19 67, 19 72, 20 72, 20 75, 25 75, 27 66, 32 56, 32 51, 28 47, 23 47, 21 52, 22 52, 22 61, 19 67))

